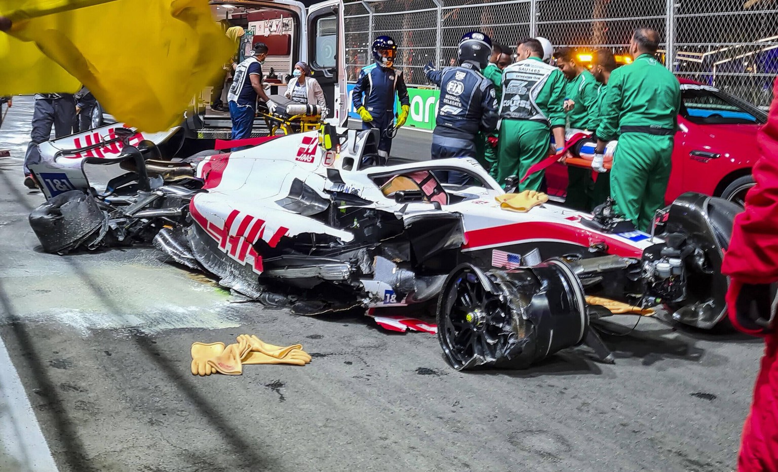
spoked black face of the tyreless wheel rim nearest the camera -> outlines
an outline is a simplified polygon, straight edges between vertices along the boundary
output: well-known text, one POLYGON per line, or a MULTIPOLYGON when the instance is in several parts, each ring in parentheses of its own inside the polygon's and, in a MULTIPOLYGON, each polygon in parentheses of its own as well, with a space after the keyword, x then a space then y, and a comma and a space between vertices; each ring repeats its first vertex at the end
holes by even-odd
POLYGON ((455 369, 495 362, 508 351, 510 306, 484 287, 478 274, 465 268, 444 289, 440 343, 455 369))

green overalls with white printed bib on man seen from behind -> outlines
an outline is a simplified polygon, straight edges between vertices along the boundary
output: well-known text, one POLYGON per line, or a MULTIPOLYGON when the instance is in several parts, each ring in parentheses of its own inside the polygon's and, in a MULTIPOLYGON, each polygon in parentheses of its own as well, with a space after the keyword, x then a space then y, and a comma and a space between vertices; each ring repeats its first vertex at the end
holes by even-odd
MULTIPOLYGON (((499 150, 496 180, 524 177, 527 170, 548 156, 550 128, 565 126, 565 76, 540 58, 528 58, 503 70, 500 101, 499 150)), ((532 174, 517 191, 537 191, 544 171, 532 174)))

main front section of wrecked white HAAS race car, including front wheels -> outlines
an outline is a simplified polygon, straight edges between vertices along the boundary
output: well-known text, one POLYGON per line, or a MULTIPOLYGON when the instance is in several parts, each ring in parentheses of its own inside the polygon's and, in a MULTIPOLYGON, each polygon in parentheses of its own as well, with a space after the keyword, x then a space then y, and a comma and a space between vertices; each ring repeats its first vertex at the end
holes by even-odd
MULTIPOLYGON (((165 178, 152 185, 155 210, 180 214, 142 223, 152 227, 144 235, 178 263, 295 313, 433 306, 456 369, 525 367, 584 342, 608 358, 593 323, 612 312, 587 305, 591 295, 664 305, 700 328, 724 318, 720 264, 737 206, 684 194, 657 215, 655 235, 619 219, 612 202, 595 215, 550 204, 513 212, 473 159, 368 165, 377 138, 325 126, 200 156, 186 191, 165 178), (447 172, 470 181, 441 184, 447 172)), ((133 211, 147 194, 138 189, 133 211)))

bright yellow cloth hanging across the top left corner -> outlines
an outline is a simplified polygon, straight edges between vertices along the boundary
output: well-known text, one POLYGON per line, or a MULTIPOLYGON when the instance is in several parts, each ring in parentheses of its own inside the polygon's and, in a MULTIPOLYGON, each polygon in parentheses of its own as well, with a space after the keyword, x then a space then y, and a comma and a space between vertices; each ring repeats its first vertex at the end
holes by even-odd
POLYGON ((142 131, 179 124, 234 53, 207 0, 2 0, 0 16, 13 22, 0 33, 0 96, 81 82, 142 131))

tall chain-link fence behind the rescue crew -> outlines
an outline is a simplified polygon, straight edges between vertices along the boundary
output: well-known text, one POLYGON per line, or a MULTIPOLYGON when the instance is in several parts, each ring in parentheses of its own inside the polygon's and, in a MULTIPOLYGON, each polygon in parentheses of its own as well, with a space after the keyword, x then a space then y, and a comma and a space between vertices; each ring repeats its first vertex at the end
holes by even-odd
POLYGON ((406 82, 423 85, 422 67, 449 65, 462 34, 479 30, 515 47, 541 36, 556 47, 626 53, 633 30, 660 34, 661 57, 675 74, 717 86, 760 106, 778 74, 776 0, 370 0, 345 6, 349 80, 373 61, 380 34, 399 44, 406 82), (670 60, 671 58, 671 60, 670 60))

